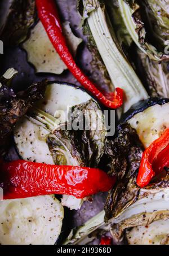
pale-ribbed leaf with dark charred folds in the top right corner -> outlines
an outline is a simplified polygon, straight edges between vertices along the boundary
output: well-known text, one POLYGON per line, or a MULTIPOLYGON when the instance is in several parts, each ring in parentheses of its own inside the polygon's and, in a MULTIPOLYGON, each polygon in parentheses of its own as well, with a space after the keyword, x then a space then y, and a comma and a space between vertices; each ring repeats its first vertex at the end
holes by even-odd
POLYGON ((124 23, 136 45, 154 61, 168 60, 167 1, 118 0, 118 2, 124 23))

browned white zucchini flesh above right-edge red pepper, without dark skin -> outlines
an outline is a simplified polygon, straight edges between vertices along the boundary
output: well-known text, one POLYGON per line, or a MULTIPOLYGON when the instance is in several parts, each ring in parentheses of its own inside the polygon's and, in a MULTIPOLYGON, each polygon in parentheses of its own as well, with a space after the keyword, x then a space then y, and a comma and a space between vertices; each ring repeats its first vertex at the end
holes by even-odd
POLYGON ((128 120, 135 128, 143 145, 148 147, 169 127, 169 103, 154 105, 128 120))

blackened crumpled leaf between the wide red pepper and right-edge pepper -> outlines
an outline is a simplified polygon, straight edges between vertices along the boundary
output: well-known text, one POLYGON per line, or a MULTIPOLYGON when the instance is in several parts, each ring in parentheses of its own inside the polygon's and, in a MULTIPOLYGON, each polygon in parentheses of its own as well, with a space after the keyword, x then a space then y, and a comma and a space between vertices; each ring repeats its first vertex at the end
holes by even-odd
POLYGON ((117 218, 137 199, 139 188, 136 175, 140 166, 143 145, 135 129, 129 124, 119 125, 114 140, 105 145, 109 173, 118 177, 117 183, 109 192, 105 205, 105 220, 117 218))

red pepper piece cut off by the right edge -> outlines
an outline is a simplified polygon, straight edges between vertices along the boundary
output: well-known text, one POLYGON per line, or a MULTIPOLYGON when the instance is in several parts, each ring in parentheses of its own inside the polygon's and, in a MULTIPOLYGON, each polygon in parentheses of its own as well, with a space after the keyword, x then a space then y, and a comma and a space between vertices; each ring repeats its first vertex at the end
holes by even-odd
POLYGON ((137 185, 143 188, 152 178, 169 166, 169 129, 155 140, 143 153, 137 185))

